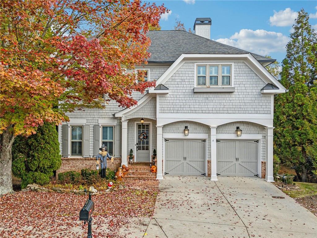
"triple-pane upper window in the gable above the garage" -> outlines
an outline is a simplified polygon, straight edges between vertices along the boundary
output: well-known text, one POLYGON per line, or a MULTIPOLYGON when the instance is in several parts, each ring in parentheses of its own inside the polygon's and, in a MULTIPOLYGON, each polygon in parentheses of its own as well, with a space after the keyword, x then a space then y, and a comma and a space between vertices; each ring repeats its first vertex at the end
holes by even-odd
POLYGON ((197 65, 196 86, 231 86, 232 73, 229 64, 197 65), (208 75, 208 80, 207 80, 208 75))

